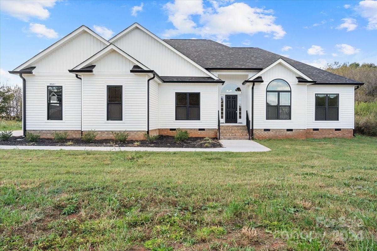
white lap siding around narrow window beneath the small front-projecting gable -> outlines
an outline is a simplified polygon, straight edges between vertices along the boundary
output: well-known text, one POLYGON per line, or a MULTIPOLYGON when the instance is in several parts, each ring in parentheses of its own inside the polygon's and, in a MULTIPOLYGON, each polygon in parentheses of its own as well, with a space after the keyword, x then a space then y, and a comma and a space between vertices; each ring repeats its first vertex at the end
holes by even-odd
POLYGON ((84 75, 83 130, 146 131, 145 75, 84 75), (123 86, 123 121, 107 121, 106 85, 123 86))

